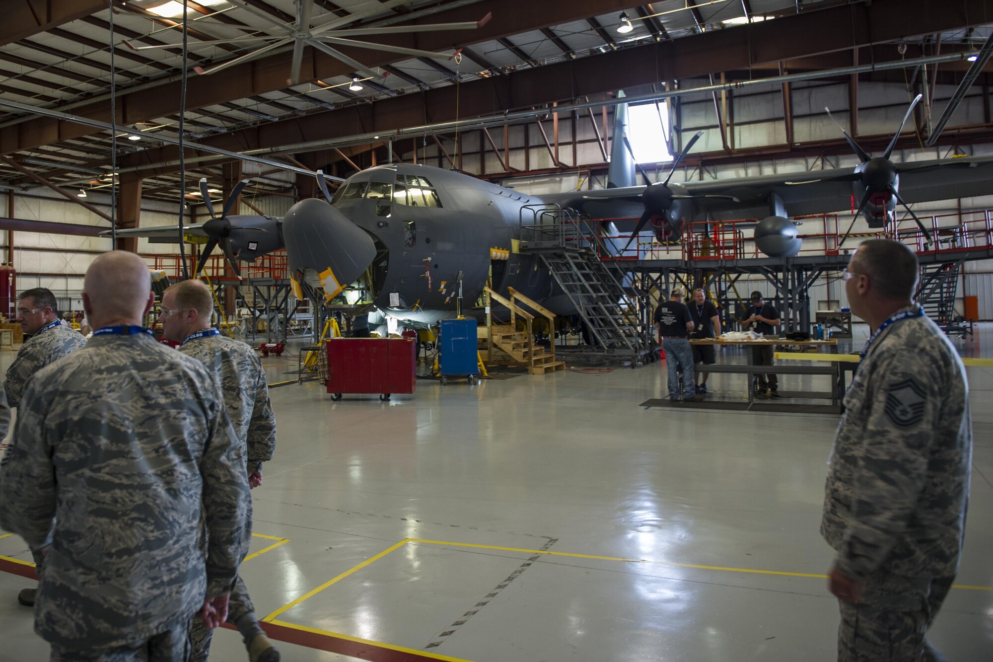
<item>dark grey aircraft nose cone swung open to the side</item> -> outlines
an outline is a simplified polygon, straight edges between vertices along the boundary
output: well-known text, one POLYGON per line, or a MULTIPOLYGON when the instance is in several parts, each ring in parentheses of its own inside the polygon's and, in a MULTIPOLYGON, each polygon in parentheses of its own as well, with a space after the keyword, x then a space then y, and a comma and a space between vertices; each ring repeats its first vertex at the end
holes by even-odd
POLYGON ((286 213, 283 241, 290 270, 315 269, 328 296, 355 281, 375 257, 372 238, 316 198, 301 200, 286 213))

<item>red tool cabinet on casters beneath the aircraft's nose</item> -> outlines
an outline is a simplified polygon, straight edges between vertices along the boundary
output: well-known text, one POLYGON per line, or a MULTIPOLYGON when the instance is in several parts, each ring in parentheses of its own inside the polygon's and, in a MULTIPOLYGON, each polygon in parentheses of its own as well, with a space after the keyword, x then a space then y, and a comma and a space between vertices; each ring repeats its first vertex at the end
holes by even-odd
POLYGON ((417 341, 410 338, 335 338, 328 343, 328 393, 413 393, 417 341))

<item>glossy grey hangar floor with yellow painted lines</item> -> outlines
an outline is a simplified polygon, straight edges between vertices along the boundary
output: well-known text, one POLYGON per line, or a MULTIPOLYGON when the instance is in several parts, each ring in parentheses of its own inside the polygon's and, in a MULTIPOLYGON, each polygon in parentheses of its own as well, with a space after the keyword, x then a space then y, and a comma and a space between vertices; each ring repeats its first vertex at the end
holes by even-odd
MULTIPOLYGON (((860 347, 864 327, 856 335, 860 347)), ((993 325, 955 342, 993 356, 981 351, 993 325)), ((266 364, 272 382, 296 367, 266 364)), ((957 579, 968 587, 952 590, 931 636, 948 659, 977 661, 993 659, 993 369, 969 380, 975 461, 957 579)), ((270 538, 252 551, 278 547, 242 566, 259 616, 309 646, 370 642, 357 644, 370 660, 833 660, 837 602, 810 576, 832 559, 817 529, 837 416, 638 407, 665 394, 657 363, 419 381, 388 404, 334 403, 317 383, 274 389, 279 445, 253 492, 254 532, 270 538)), ((9 537, 0 555, 27 551, 9 537)), ((47 659, 15 599, 33 583, 0 573, 2 661, 47 659)), ((294 662, 355 659, 279 646, 294 662)), ((211 659, 243 651, 220 631, 211 659)))

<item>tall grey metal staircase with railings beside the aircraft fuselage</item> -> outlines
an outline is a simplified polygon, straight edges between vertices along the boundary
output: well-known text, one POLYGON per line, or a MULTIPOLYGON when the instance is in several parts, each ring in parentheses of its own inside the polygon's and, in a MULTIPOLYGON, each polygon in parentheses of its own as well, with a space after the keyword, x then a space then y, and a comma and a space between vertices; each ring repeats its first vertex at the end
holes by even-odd
POLYGON ((520 248, 541 258, 585 322, 592 346, 576 353, 631 357, 637 364, 651 350, 646 294, 623 285, 625 274, 601 259, 615 250, 595 223, 558 207, 532 211, 535 223, 524 225, 521 210, 520 248))

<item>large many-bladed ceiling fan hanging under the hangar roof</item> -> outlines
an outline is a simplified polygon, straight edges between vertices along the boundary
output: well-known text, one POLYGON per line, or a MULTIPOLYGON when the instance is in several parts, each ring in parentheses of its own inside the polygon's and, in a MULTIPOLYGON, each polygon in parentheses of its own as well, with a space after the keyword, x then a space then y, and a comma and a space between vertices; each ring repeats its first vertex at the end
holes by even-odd
MULTIPOLYGON (((335 14, 323 14, 317 19, 313 17, 314 11, 314 1, 313 0, 297 0, 297 15, 296 21, 293 23, 283 23, 282 21, 276 19, 275 17, 267 14, 264 11, 256 9, 252 5, 246 3, 244 0, 227 0, 231 5, 234 5, 238 9, 243 9, 246 12, 264 20, 266 23, 270 24, 269 27, 260 29, 257 32, 265 32, 267 34, 258 36, 245 36, 245 37, 235 37, 233 39, 218 39, 213 41, 198 41, 194 45, 201 46, 207 44, 235 44, 235 43, 252 43, 257 42, 261 46, 250 53, 246 53, 243 56, 233 58, 226 62, 222 62, 219 65, 211 67, 210 69, 203 69, 200 67, 195 67, 194 71, 202 75, 215 74, 219 71, 227 69, 228 67, 233 67, 234 65, 240 64, 247 60, 252 60, 259 57, 260 55, 272 51, 273 49, 280 48, 282 46, 287 46, 293 44, 293 64, 290 68, 290 78, 288 83, 298 84, 300 83, 300 70, 303 65, 304 59, 304 49, 308 46, 315 48, 336 60, 339 60, 350 67, 354 68, 356 72, 361 73, 363 76, 367 77, 378 77, 385 76, 385 74, 378 74, 368 67, 365 67, 360 62, 349 57, 348 55, 342 53, 335 46, 350 46, 357 49, 369 49, 372 51, 387 51, 389 53, 399 53, 402 55, 409 55, 415 58, 434 58, 437 60, 448 60, 451 56, 444 53, 434 53, 432 51, 422 51, 419 49, 408 49, 399 46, 391 46, 389 44, 376 44, 373 42, 359 41, 351 39, 357 36, 368 36, 368 35, 396 35, 396 34, 408 34, 411 32, 434 32, 438 30, 475 30, 477 28, 483 27, 490 20, 491 14, 487 14, 479 21, 465 21, 460 23, 431 23, 431 24, 418 24, 418 25, 401 25, 401 26, 389 26, 389 27, 358 27, 358 28, 346 28, 351 23, 359 21, 365 18, 369 18, 376 14, 382 13, 384 10, 392 9, 400 5, 409 3, 411 0, 386 0, 385 2, 379 2, 378 0, 371 0, 358 7, 350 9, 351 12, 348 16, 339 17, 335 14)), ((156 46, 134 46, 129 42, 124 42, 128 48, 135 51, 143 51, 146 49, 163 49, 163 48, 177 48, 182 46, 181 44, 162 44, 156 46)))

